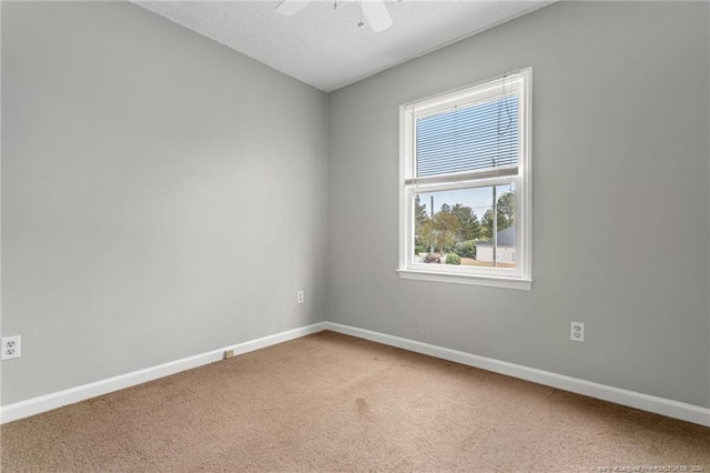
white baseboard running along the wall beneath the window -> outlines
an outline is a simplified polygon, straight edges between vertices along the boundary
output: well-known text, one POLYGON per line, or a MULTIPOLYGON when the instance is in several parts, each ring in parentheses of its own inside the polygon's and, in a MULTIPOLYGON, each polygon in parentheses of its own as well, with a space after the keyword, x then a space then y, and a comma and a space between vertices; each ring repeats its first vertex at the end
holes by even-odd
POLYGON ((560 390, 570 391, 577 394, 627 405, 629 407, 636 407, 642 411, 653 412, 657 414, 667 415, 669 417, 680 419, 682 421, 710 426, 710 409, 707 407, 638 393, 635 391, 622 390, 605 384, 592 383, 590 381, 578 380, 576 378, 565 376, 562 374, 551 373, 549 371, 537 370, 534 368, 494 360, 486 356, 478 356, 457 350, 445 349, 442 346, 430 345, 428 343, 387 335, 369 330, 356 329, 354 326, 342 325, 339 323, 325 322, 325 329, 333 332, 383 343, 385 345, 396 346, 398 349, 427 354, 469 366, 480 368, 483 370, 506 374, 508 376, 531 381, 538 384, 558 388, 560 390))

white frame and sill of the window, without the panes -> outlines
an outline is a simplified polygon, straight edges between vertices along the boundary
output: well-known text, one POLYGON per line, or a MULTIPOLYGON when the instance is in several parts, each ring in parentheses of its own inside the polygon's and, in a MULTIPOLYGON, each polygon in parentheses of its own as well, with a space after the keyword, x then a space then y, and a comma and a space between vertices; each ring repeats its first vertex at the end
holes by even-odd
POLYGON ((530 172, 530 129, 531 129, 531 68, 486 80, 463 90, 447 92, 429 99, 399 107, 399 266, 402 279, 476 284, 529 291, 532 284, 531 269, 531 172, 530 172), (490 172, 456 173, 435 178, 415 178, 414 169, 414 123, 418 118, 453 110, 455 105, 473 104, 490 100, 491 91, 504 77, 508 81, 518 81, 518 172, 491 174, 490 172), (485 99, 488 97, 488 99, 485 99), (516 188, 516 246, 515 269, 463 266, 449 264, 427 264, 414 259, 414 195, 422 192, 436 192, 455 189, 469 189, 514 184, 516 188), (416 190, 415 190, 416 189, 416 190))

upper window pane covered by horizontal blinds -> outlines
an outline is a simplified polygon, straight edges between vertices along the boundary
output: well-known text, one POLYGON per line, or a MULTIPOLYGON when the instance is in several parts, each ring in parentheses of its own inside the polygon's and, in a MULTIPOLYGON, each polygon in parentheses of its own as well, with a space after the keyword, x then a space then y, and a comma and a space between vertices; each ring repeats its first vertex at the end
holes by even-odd
POLYGON ((518 97, 457 108, 416 121, 417 177, 515 167, 518 97))

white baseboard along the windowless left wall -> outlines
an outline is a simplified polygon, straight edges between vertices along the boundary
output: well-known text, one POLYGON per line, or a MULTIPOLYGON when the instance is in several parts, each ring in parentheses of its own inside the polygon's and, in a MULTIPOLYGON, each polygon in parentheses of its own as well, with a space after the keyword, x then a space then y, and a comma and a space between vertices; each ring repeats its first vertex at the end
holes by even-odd
POLYGON ((226 350, 234 350, 234 355, 243 354, 286 342, 288 340, 310 335, 311 333, 321 332, 323 330, 325 330, 325 322, 318 322, 312 325, 288 330, 261 339, 237 343, 236 345, 225 346, 220 350, 213 350, 194 356, 184 358, 182 360, 171 361, 169 363, 134 371, 132 373, 121 374, 93 383, 83 384, 81 386, 32 397, 27 401, 3 405, 0 407, 0 423, 3 424, 19 419, 29 417, 30 415, 40 414, 42 412, 84 401, 90 397, 108 394, 136 384, 142 384, 148 381, 153 381, 159 378, 169 376, 181 371, 191 370, 193 368, 220 361, 226 350))

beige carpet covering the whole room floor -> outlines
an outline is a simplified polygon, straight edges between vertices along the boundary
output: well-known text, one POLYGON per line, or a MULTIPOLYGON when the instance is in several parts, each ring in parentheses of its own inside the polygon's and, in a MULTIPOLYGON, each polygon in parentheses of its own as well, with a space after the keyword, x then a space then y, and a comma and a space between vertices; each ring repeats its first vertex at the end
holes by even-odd
POLYGON ((332 332, 0 433, 3 472, 710 473, 708 427, 332 332))

